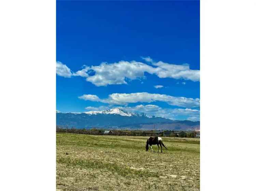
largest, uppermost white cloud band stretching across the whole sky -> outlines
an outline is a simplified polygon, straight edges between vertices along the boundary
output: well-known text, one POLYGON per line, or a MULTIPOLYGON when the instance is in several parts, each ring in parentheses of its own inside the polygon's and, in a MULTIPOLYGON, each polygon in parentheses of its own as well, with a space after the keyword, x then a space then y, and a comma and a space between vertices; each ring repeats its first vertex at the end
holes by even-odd
POLYGON ((147 65, 137 61, 119 61, 117 63, 101 63, 99 66, 85 66, 84 69, 75 73, 71 73, 66 66, 59 64, 60 71, 57 73, 63 77, 82 76, 86 81, 93 83, 96 86, 107 86, 112 84, 127 84, 127 79, 135 80, 144 78, 144 73, 157 75, 159 78, 173 78, 191 81, 200 81, 200 71, 191 70, 188 64, 175 65, 164 63, 162 61, 153 62, 150 57, 142 57, 146 62, 151 62, 152 65, 147 65), (93 72, 93 75, 88 75, 93 72))

